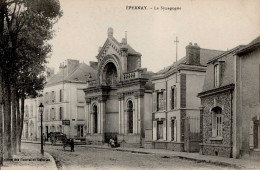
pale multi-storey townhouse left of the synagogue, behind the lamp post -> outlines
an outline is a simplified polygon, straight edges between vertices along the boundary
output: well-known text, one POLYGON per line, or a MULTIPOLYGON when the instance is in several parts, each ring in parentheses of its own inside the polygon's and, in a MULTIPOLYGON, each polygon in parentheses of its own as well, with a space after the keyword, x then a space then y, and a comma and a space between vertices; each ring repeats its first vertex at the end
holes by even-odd
POLYGON ((95 65, 91 67, 79 63, 78 60, 68 59, 61 63, 56 74, 50 73, 43 90, 43 97, 25 100, 23 138, 40 140, 38 106, 43 103, 45 136, 50 132, 62 132, 69 138, 85 139, 87 127, 83 89, 86 88, 89 74, 96 76, 94 68, 95 65))

